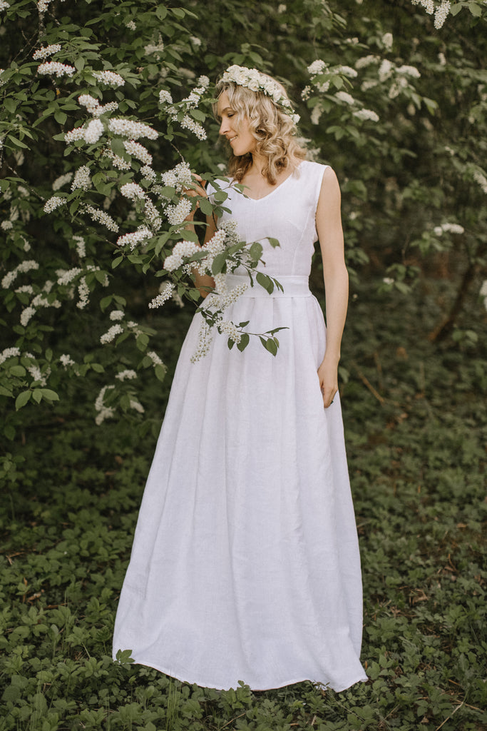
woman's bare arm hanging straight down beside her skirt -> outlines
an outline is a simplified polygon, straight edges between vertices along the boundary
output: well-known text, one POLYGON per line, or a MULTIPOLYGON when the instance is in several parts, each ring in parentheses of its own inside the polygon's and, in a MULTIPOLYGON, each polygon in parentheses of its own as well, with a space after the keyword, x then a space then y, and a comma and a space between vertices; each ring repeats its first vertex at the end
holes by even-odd
POLYGON ((348 307, 348 271, 345 266, 340 186, 337 175, 328 167, 323 174, 316 230, 323 257, 326 295, 326 351, 318 368, 323 406, 331 404, 338 390, 340 346, 348 307))

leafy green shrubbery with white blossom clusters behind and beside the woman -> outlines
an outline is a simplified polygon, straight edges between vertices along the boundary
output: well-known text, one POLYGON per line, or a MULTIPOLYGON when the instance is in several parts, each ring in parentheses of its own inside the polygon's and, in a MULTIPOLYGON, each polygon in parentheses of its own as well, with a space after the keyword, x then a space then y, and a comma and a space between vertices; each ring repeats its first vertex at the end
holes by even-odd
MULTIPOLYGON (((194 230, 185 223, 197 204, 217 215, 225 205, 225 183, 214 207, 185 190, 191 170, 212 180, 207 170, 214 173, 222 160, 209 80, 231 64, 279 69, 294 83, 310 155, 339 171, 352 273, 379 261, 380 281, 385 276, 391 290, 407 292, 419 270, 416 254, 460 248, 480 287, 487 170, 472 140, 485 124, 485 72, 477 58, 464 72, 470 41, 461 45, 449 29, 459 22, 466 37, 475 32, 465 18, 482 22, 485 4, 412 0, 397 11, 401 34, 381 4, 369 5, 362 17, 355 0, 307 0, 304 18, 292 0, 269 7, 266 29, 249 16, 250 36, 268 50, 264 60, 251 44, 234 48, 229 24, 237 31, 239 15, 213 0, 203 39, 196 5, 193 12, 108 0, 95 16, 88 2, 69 9, 60 0, 0 4, 0 395, 8 438, 20 423, 15 406, 52 403, 58 393, 75 398, 81 379, 93 381, 99 422, 118 409, 137 418, 137 379, 117 374, 147 370, 162 379, 165 369, 149 350, 155 330, 132 313, 134 291, 152 313, 172 300, 198 302, 195 267, 216 276, 219 289, 218 275, 238 263, 252 272, 258 244, 250 254, 227 230, 199 251, 204 221, 197 216, 194 230), (303 24, 332 42, 311 47, 303 24), (440 25, 452 34, 448 42, 440 25), (290 50, 284 56, 283 34, 290 50), (428 43, 419 46, 421 34, 428 43), (72 339, 68 352, 66 337, 77 332, 83 338, 72 339)), ((244 327, 228 321, 225 307, 212 295, 203 305, 208 333, 218 330, 245 347, 244 327)), ((258 334, 273 352, 274 334, 258 334)))

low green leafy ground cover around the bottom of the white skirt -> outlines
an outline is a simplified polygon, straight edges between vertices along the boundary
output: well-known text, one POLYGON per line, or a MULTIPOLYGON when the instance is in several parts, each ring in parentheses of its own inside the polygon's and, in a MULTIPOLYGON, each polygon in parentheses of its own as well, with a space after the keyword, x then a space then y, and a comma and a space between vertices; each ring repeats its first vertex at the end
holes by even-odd
MULTIPOLYGON (((16 445, 25 462, 1 515, 1 731, 487 728, 487 327, 475 323, 484 345, 430 344, 438 311, 437 286, 428 287, 394 306, 359 289, 345 334, 369 682, 340 694, 311 683, 218 693, 112 662, 115 608, 170 379, 162 393, 145 382, 144 423, 97 428, 84 398, 25 409, 16 445)), ((188 317, 151 323, 166 333, 172 368, 188 317)))

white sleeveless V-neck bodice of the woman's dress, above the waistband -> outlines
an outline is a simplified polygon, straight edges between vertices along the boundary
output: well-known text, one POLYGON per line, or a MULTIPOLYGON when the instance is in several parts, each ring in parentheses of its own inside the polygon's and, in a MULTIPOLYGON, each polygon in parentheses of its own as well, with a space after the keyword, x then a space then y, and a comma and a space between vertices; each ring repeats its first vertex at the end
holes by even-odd
MULTIPOLYGON (((310 275, 314 243, 318 239, 316 207, 326 167, 304 160, 293 175, 259 200, 245 196, 245 189, 241 193, 232 184, 221 181, 221 189, 229 196, 223 206, 231 213, 224 212, 220 222, 234 219, 241 240, 262 244, 265 265, 259 264, 258 269, 266 274, 277 278, 310 275), (267 236, 277 238, 280 245, 273 248, 267 236)), ((209 186, 208 192, 212 200, 214 189, 209 186)))

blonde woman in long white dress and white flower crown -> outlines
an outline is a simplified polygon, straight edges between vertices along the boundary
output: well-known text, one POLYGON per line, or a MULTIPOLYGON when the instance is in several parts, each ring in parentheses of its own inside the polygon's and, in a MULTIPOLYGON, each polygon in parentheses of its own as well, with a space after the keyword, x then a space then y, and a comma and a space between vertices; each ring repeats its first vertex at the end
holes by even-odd
MULTIPOLYGON (((231 217, 242 239, 260 240, 259 268, 284 290, 248 287, 226 317, 254 333, 287 329, 276 357, 258 338, 239 352, 217 335, 191 363, 201 316, 193 319, 145 488, 114 656, 131 649, 136 662, 218 689, 310 680, 341 691, 367 676, 337 394, 348 300, 340 189, 330 167, 304 160, 283 86, 230 67, 217 91, 230 174, 245 186, 230 186, 231 214, 218 224, 231 217), (317 234, 327 331, 308 288, 317 234)), ((196 279, 202 292, 212 284, 196 279)), ((238 270, 226 277, 229 289, 245 282, 238 270)))

